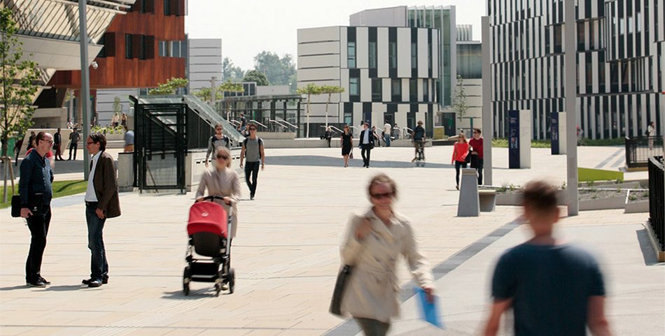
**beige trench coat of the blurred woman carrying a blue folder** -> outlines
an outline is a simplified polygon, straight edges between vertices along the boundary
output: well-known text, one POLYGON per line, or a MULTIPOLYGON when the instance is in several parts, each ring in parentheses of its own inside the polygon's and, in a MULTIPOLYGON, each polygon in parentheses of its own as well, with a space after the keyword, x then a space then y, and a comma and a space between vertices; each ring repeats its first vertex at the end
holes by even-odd
POLYGON ((390 323, 399 316, 399 284, 395 266, 402 254, 418 286, 434 288, 426 258, 416 246, 409 219, 395 213, 388 228, 370 208, 351 217, 341 247, 342 263, 352 265, 342 297, 342 312, 390 323), (356 227, 367 217, 372 233, 356 240, 356 227))

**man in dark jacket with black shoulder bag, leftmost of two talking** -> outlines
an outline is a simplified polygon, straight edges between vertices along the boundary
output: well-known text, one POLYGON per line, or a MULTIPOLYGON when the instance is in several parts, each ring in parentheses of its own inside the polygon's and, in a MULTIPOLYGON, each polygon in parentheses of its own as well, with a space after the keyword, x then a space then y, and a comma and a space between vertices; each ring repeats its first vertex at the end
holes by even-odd
POLYGON ((25 218, 32 236, 25 262, 25 282, 31 287, 51 284, 41 276, 41 261, 46 248, 46 236, 51 221, 53 170, 45 158, 53 145, 50 133, 35 136, 36 147, 21 161, 18 190, 21 198, 21 217, 25 218))

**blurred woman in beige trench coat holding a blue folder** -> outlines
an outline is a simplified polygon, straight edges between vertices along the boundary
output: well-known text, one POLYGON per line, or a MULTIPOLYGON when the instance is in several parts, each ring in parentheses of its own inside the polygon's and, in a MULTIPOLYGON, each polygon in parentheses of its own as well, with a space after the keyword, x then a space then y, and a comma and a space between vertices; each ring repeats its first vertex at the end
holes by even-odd
POLYGON ((356 319, 365 335, 386 335, 391 318, 399 315, 399 283, 396 263, 405 257, 418 286, 433 300, 433 277, 420 254, 409 219, 393 210, 395 182, 376 175, 368 187, 372 207, 351 217, 344 242, 342 263, 352 265, 342 297, 342 312, 356 319))

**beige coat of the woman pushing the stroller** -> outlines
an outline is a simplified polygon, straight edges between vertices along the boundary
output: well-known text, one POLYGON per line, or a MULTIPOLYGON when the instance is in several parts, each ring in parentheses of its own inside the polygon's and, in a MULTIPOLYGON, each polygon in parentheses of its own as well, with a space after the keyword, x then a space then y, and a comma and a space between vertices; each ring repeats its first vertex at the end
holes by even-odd
POLYGON ((201 182, 199 183, 199 188, 196 191, 196 198, 201 198, 204 196, 204 191, 208 189, 208 196, 229 196, 232 200, 231 206, 226 205, 223 200, 215 200, 215 203, 224 207, 228 212, 229 208, 232 207, 232 226, 231 226, 231 238, 235 238, 235 234, 238 230, 238 200, 240 198, 240 178, 238 173, 234 170, 226 168, 225 170, 206 170, 201 175, 201 182))

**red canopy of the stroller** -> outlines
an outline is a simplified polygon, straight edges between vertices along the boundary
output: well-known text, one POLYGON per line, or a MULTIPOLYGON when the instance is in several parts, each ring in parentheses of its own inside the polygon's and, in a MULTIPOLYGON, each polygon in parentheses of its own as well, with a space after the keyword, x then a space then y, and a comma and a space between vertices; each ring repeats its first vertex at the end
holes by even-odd
POLYGON ((224 207, 214 202, 194 203, 189 210, 187 234, 209 232, 227 237, 227 214, 224 207))

